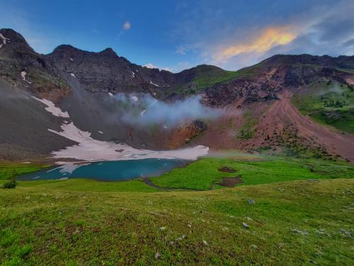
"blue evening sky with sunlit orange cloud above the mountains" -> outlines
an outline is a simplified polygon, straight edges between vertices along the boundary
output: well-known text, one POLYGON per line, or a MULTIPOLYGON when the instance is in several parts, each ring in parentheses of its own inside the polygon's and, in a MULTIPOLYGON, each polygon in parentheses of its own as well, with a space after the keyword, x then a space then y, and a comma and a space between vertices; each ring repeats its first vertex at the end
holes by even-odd
POLYGON ((275 54, 354 55, 354 0, 0 0, 0 28, 171 72, 239 70, 275 54))

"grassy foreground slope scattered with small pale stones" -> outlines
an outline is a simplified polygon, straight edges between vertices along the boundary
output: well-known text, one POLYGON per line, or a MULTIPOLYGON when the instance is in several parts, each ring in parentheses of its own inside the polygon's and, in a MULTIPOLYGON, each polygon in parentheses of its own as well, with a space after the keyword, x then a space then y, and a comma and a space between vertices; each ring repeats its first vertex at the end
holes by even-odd
POLYGON ((354 179, 207 192, 103 184, 1 189, 2 265, 353 265, 354 179))

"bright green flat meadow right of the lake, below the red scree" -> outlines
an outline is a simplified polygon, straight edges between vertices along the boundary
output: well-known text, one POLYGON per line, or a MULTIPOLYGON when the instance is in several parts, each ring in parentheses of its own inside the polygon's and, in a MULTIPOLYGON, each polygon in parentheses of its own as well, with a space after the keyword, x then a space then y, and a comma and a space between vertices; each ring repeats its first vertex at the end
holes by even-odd
POLYGON ((176 168, 151 180, 160 187, 207 190, 219 188, 222 177, 241 176, 245 184, 267 184, 301 179, 328 179, 354 177, 354 167, 346 162, 294 159, 291 157, 264 157, 264 160, 233 160, 205 158, 183 168, 176 168), (219 172, 227 166, 235 173, 219 172))

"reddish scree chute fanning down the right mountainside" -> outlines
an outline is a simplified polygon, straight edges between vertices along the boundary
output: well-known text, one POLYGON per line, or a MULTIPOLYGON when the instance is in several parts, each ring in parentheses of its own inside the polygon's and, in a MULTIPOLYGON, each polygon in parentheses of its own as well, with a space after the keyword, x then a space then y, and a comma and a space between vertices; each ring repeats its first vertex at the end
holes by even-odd
POLYGON ((275 101, 266 117, 273 121, 290 121, 299 130, 299 135, 306 138, 315 138, 316 143, 325 145, 332 153, 337 153, 354 162, 354 135, 343 134, 335 129, 315 123, 307 116, 303 116, 290 103, 291 96, 292 94, 289 91, 280 94, 280 100, 275 101))

